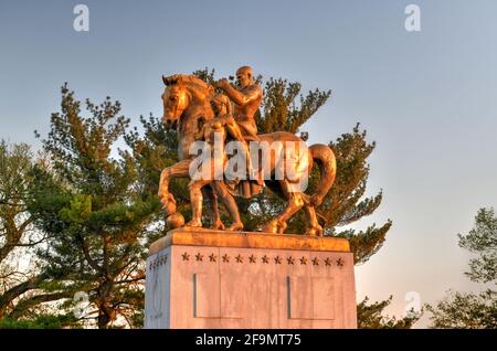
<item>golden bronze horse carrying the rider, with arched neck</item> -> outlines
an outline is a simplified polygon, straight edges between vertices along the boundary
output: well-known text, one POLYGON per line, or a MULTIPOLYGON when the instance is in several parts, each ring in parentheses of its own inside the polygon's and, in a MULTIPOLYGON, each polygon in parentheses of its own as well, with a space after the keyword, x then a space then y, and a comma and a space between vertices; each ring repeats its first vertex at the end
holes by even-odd
MULTIPOLYGON (((162 76, 162 81, 166 85, 163 94, 161 95, 163 102, 162 121, 166 126, 178 129, 178 156, 180 161, 162 170, 160 174, 159 198, 163 210, 168 214, 168 225, 170 227, 180 227, 184 225, 184 220, 182 215, 176 211, 175 196, 169 193, 168 189, 169 180, 171 178, 190 178, 189 170, 194 156, 191 156, 189 151, 192 143, 195 141, 194 136, 198 135, 203 124, 215 118, 211 105, 211 100, 215 95, 215 89, 212 85, 193 75, 162 76)), ((258 135, 258 139, 262 142, 268 143, 274 141, 283 142, 283 149, 279 150, 279 152, 286 152, 286 148, 288 148, 287 145, 290 145, 292 142, 304 142, 303 139, 286 131, 258 135)), ((299 169, 294 170, 293 179, 285 176, 281 180, 275 180, 277 168, 276 160, 278 159, 278 155, 271 159, 268 164, 269 177, 267 177, 264 182, 273 192, 286 200, 286 208, 279 215, 263 227, 264 233, 284 233, 287 227, 287 221, 297 211, 304 209, 307 224, 306 234, 314 236, 322 235, 322 227, 317 221, 315 208, 322 202, 324 196, 334 184, 336 177, 336 159, 332 150, 326 145, 316 143, 306 148, 306 150, 308 155, 305 155, 305 157, 299 159, 300 162, 306 162, 303 168, 306 170, 306 173, 302 173, 302 167, 299 167, 299 169), (320 172, 317 192, 309 195, 302 191, 295 191, 295 174, 297 178, 307 177, 307 172, 313 169, 314 162, 318 164, 320 172)), ((209 185, 207 185, 204 188, 205 189, 202 189, 203 193, 208 195, 212 205, 211 227, 224 228, 218 211, 215 187, 208 189, 209 185)), ((199 201, 199 199, 197 199, 197 201, 199 201)), ((202 198, 200 198, 200 201, 202 201, 202 198)), ((235 202, 233 200, 230 203, 235 202)), ((231 210, 237 211, 237 209, 231 210)))

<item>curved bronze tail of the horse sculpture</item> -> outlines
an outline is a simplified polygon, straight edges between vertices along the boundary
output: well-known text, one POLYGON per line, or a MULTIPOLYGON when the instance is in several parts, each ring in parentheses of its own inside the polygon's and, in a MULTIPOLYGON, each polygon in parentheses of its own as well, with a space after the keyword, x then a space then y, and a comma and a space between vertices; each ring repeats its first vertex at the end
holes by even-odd
POLYGON ((324 143, 310 146, 309 151, 311 156, 309 172, 313 168, 313 161, 319 167, 320 179, 317 185, 317 192, 310 195, 310 204, 313 206, 318 206, 321 204, 322 199, 335 182, 337 176, 337 160, 331 148, 324 143))

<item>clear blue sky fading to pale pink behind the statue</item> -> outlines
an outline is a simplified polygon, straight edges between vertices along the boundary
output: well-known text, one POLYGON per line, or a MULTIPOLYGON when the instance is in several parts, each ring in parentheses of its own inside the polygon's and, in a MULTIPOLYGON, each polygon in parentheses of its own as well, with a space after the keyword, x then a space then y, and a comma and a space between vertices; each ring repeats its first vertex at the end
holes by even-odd
POLYGON ((497 205, 496 13, 493 0, 0 0, 0 138, 39 146, 33 130, 46 134, 64 82, 81 98, 119 99, 135 121, 161 114, 161 74, 204 66, 330 88, 303 129, 328 142, 360 121, 378 142, 368 193, 384 200, 355 227, 393 227, 357 267, 358 300, 393 294, 401 315, 409 291, 431 302, 475 289, 456 234, 497 205), (88 32, 73 29, 77 3, 88 32), (409 3, 421 32, 404 29, 409 3))

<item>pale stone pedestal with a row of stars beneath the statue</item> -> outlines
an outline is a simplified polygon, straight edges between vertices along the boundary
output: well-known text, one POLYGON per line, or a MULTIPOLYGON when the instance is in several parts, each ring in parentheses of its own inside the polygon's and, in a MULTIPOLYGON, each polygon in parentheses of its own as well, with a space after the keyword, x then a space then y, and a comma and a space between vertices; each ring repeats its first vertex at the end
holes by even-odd
POLYGON ((357 328, 343 238, 170 231, 147 259, 145 328, 357 328))

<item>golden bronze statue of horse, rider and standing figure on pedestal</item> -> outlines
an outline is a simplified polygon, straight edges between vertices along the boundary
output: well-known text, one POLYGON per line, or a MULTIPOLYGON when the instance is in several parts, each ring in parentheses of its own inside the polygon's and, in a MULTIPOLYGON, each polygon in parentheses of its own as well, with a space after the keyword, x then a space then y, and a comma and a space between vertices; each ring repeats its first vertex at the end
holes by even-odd
MULTIPOLYGON (((202 139, 208 143, 213 142, 213 136, 218 136, 224 143, 226 138, 232 138, 242 142, 244 152, 248 156, 248 170, 254 170, 250 162, 250 151, 247 141, 251 142, 267 142, 282 141, 283 147, 275 151, 274 158, 269 158, 267 170, 268 177, 265 177, 264 183, 272 191, 281 195, 287 201, 284 211, 274 220, 269 221, 263 228, 266 233, 283 233, 287 226, 286 222, 300 209, 304 209, 306 214, 308 235, 322 235, 322 227, 319 225, 315 206, 319 205, 322 198, 331 188, 336 176, 336 160, 332 150, 326 145, 313 145, 306 149, 305 155, 297 155, 295 160, 295 168, 293 176, 295 179, 307 177, 304 169, 311 170, 313 163, 319 167, 320 182, 318 191, 313 194, 306 194, 300 191, 295 191, 295 179, 285 177, 276 180, 277 160, 285 159, 288 152, 288 145, 292 142, 304 142, 297 136, 286 132, 276 131, 272 134, 257 135, 257 128, 254 120, 254 115, 258 109, 263 93, 262 88, 254 84, 252 70, 247 66, 239 68, 236 72, 239 88, 232 86, 228 79, 221 79, 216 83, 216 87, 221 88, 234 104, 234 114, 231 114, 231 104, 224 95, 216 95, 215 88, 193 75, 172 75, 170 77, 162 77, 166 85, 162 94, 163 102, 163 117, 162 120, 167 126, 178 128, 178 155, 180 161, 161 172, 159 184, 159 198, 162 208, 168 214, 167 223, 170 227, 179 227, 184 225, 184 220, 181 214, 176 212, 176 201, 171 193, 169 193, 168 184, 171 178, 191 178, 189 172, 190 166, 193 162, 193 156, 189 155, 190 147, 195 140, 202 139), (212 108, 214 105, 215 111, 212 108), (289 141, 289 142, 285 142, 289 141), (278 153, 279 152, 279 153, 278 153)), ((214 155, 211 155, 214 159, 214 155)), ((221 159, 214 159, 224 167, 225 156, 221 159)), ((260 172, 260 169, 257 170, 260 172)), ((258 173, 261 174, 261 173, 258 173)), ((250 198, 260 191, 262 185, 262 178, 255 180, 240 180, 236 184, 243 184, 241 191, 233 190, 233 182, 219 179, 211 173, 209 179, 191 180, 190 200, 192 206, 192 220, 188 223, 189 226, 202 226, 201 213, 203 195, 207 195, 212 205, 211 211, 211 227, 222 230, 222 223, 218 211, 218 198, 220 198, 232 217, 231 231, 243 228, 243 223, 240 221, 234 195, 250 198), (245 189, 245 191, 243 191, 245 189), (246 191, 246 189, 248 189, 246 191)))

